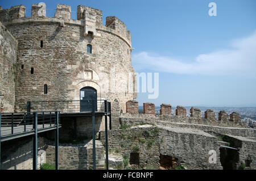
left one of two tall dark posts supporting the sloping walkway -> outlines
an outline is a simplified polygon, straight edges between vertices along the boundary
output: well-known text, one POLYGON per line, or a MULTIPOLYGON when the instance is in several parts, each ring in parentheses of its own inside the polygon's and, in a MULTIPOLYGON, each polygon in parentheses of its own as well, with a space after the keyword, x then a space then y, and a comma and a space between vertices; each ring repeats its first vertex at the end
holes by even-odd
POLYGON ((33 113, 35 134, 33 137, 33 170, 38 170, 38 112, 33 113))

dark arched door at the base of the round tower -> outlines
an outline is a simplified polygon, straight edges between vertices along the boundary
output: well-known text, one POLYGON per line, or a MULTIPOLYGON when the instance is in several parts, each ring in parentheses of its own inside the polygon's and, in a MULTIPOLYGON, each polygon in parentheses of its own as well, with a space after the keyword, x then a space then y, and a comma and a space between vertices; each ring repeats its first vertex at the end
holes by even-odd
POLYGON ((93 107, 94 111, 97 111, 97 90, 89 86, 83 87, 80 89, 80 112, 90 112, 93 107))

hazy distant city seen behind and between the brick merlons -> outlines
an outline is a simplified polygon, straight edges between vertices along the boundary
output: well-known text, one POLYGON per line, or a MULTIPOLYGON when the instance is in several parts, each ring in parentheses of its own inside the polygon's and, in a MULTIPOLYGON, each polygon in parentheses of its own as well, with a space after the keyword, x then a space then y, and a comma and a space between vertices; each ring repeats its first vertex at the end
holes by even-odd
MULTIPOLYGON (((185 106, 187 110, 187 116, 190 115, 189 110, 192 106, 185 106)), ((226 111, 226 113, 230 114, 232 112, 240 113, 242 117, 242 122, 246 123, 250 127, 254 128, 256 124, 256 107, 200 107, 197 106, 202 112, 202 117, 204 117, 204 112, 208 109, 216 112, 216 119, 218 119, 218 112, 226 111)), ((172 114, 175 115, 176 107, 172 108, 172 114)), ((143 106, 139 106, 139 113, 143 113, 143 106)), ((156 115, 160 114, 160 106, 155 107, 156 115)))

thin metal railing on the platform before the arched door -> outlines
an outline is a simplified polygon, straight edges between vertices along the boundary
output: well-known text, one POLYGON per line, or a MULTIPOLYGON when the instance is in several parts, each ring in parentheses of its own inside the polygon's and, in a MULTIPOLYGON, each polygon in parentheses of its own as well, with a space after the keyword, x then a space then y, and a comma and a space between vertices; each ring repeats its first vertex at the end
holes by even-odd
POLYGON ((27 112, 59 111, 60 113, 111 112, 111 103, 107 100, 51 100, 27 102, 27 112), (81 105, 89 107, 83 110, 81 105), (94 105, 94 106, 93 106, 94 105), (93 110, 94 108, 94 110, 93 110))

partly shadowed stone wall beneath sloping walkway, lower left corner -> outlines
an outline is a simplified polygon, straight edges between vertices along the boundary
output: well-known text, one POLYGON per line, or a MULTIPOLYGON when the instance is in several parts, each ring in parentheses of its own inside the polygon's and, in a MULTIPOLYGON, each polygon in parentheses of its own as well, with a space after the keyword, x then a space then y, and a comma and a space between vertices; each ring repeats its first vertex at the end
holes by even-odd
MULTIPOLYGON (((1 144, 3 170, 32 170, 33 142, 31 136, 1 142, 1 144)), ((38 137, 38 169, 40 165, 46 163, 45 146, 44 138, 38 137)))

